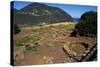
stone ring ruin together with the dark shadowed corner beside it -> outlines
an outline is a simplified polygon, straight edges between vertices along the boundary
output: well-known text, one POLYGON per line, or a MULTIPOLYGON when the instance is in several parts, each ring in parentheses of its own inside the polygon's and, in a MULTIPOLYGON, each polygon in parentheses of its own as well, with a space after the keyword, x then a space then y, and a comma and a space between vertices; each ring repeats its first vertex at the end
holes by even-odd
POLYGON ((83 42, 67 43, 63 46, 63 51, 68 58, 64 62, 84 62, 97 60, 97 44, 83 42))

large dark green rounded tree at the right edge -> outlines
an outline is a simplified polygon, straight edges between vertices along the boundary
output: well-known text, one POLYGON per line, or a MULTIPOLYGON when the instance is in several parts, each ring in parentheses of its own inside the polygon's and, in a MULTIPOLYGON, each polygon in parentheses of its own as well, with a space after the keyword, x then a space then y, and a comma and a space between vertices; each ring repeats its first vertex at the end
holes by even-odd
POLYGON ((83 35, 96 35, 97 34, 97 12, 89 11, 84 13, 78 24, 75 26, 73 32, 83 35))

